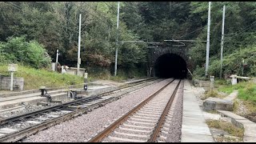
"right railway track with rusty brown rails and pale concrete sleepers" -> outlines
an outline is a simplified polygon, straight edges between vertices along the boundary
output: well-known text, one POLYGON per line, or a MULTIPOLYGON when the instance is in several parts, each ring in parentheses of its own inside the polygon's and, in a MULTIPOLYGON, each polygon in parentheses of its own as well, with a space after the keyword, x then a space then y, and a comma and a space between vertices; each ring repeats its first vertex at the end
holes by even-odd
POLYGON ((160 131, 164 131, 162 126, 170 118, 170 107, 180 83, 181 80, 171 81, 89 142, 164 142, 160 131))

